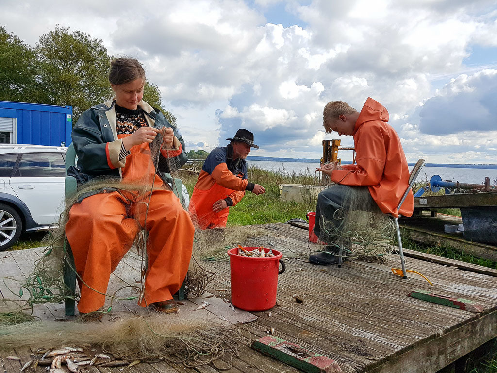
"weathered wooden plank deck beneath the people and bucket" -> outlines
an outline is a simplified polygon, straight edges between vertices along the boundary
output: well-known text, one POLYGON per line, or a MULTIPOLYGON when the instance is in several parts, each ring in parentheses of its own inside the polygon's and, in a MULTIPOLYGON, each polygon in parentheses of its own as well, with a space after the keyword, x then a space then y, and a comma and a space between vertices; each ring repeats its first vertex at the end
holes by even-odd
MULTIPOLYGON (((389 255, 385 265, 351 261, 345 262, 342 268, 315 266, 301 259, 309 253, 306 230, 287 224, 268 224, 257 226, 257 229, 261 227, 266 228, 265 235, 240 244, 267 246, 272 243, 287 258, 286 272, 278 280, 277 303, 271 316, 267 312, 250 314, 238 309, 233 312, 226 307, 221 298, 229 299, 230 294, 217 289, 230 288, 229 262, 203 263, 217 273, 208 285, 208 291, 215 295, 209 301, 218 303, 198 312, 204 312, 206 317, 228 315, 233 324, 253 320, 244 326, 253 333, 254 339, 267 336, 272 327, 276 337, 321 353, 335 360, 343 372, 349 373, 437 372, 497 336, 496 270, 408 251, 407 268, 426 276, 434 284, 430 286, 414 274, 410 274, 408 280, 392 274, 392 267, 400 268, 400 260, 395 255, 389 255), (291 258, 296 256, 301 258, 291 258), (474 300, 484 311, 473 313, 407 296, 416 289, 474 300), (301 295, 303 303, 297 303, 294 294, 301 295)), ((2 277, 25 276, 39 255, 40 250, 35 249, 0 253, 2 277)), ((134 283, 135 278, 139 278, 136 261, 134 254, 125 257, 111 278, 111 289, 117 289, 123 283, 134 283)), ((12 298, 4 281, 0 281, 1 296, 12 298)), ((122 301, 121 305, 113 306, 113 312, 125 309, 134 312, 139 308, 135 302, 122 301)), ((195 307, 193 302, 198 304, 200 300, 193 299, 182 307, 192 309, 195 307)), ((36 315, 45 319, 61 318, 63 313, 62 305, 44 305, 36 309, 36 315)), ((41 346, 32 346, 33 349, 38 347, 41 346)), ((28 355, 28 350, 2 352, 1 372, 18 373, 29 359, 28 355), (5 359, 14 354, 22 360, 5 359)), ((88 372, 218 371, 211 366, 185 369, 162 362, 138 364, 129 369, 90 367, 88 372)), ((234 359, 233 368, 226 372, 300 371, 246 347, 241 358, 234 359)))

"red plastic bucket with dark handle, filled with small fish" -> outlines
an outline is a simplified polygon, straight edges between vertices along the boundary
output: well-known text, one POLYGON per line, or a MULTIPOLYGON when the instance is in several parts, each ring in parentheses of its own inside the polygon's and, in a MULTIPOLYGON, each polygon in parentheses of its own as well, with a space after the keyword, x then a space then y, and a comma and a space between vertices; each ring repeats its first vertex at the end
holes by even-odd
MULTIPOLYGON (((252 251, 258 247, 244 247, 252 251)), ((269 249, 264 248, 267 253, 269 249)), ((231 302, 246 311, 265 311, 276 304, 278 275, 285 272, 283 254, 272 250, 274 257, 250 258, 238 255, 238 248, 228 250, 231 270, 231 302), (279 263, 283 267, 279 271, 279 263)))

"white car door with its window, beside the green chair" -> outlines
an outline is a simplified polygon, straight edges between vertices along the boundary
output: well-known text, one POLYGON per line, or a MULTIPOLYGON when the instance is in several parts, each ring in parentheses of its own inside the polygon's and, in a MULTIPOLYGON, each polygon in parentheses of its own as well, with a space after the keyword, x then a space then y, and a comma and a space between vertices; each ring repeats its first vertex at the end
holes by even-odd
POLYGON ((10 186, 34 221, 50 225, 64 209, 65 165, 61 153, 24 153, 10 186))

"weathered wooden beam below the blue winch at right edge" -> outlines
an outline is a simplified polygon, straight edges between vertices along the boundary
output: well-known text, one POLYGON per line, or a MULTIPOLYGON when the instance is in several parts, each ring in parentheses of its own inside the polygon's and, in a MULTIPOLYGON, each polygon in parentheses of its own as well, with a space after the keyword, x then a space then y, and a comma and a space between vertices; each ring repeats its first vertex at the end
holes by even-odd
POLYGON ((497 192, 444 194, 414 198, 414 208, 497 206, 497 192))

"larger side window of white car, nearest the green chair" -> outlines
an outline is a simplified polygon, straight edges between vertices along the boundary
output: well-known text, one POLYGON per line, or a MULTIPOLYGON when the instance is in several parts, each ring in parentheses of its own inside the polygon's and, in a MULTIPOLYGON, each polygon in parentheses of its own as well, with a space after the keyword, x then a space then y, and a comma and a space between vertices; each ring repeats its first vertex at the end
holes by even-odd
POLYGON ((60 153, 24 153, 14 176, 65 177, 64 158, 60 153))

